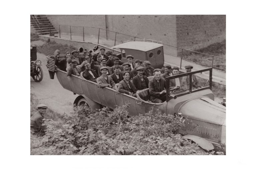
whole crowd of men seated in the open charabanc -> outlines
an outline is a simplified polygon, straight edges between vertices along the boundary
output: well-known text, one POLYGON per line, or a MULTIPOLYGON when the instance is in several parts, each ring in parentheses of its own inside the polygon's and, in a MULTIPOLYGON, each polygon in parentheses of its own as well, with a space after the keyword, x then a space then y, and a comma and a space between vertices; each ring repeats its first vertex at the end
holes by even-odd
MULTIPOLYGON (((73 50, 66 52, 66 58, 59 59, 60 51, 56 50, 55 65, 62 71, 67 72, 70 79, 71 75, 83 76, 85 79, 96 82, 101 88, 109 87, 120 93, 125 93, 136 97, 138 90, 149 88, 150 101, 153 103, 162 103, 166 100, 166 77, 179 74, 178 67, 165 65, 165 72, 161 69, 154 69, 150 61, 141 61, 135 59, 132 55, 127 55, 127 62, 122 62, 120 55, 117 56, 111 50, 100 48, 98 45, 93 50, 85 50, 83 55, 79 51, 73 50), (142 65, 143 64, 143 65, 142 65), (148 77, 154 76, 150 80, 148 77)), ((186 71, 190 72, 193 66, 185 66, 186 71)), ((200 85, 193 75, 192 83, 194 88, 200 85)), ((175 78, 170 80, 170 88, 180 87, 186 89, 189 87, 188 77, 175 78)))

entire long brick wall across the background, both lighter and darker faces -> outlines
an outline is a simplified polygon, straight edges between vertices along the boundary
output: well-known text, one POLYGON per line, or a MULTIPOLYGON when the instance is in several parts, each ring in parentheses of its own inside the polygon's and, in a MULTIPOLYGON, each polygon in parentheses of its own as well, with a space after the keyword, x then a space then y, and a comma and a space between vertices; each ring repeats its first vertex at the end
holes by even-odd
MULTIPOLYGON (((134 37, 162 41, 164 44, 187 49, 197 49, 226 38, 225 15, 46 15, 58 31, 72 35, 85 34, 98 36, 99 29, 118 32, 116 40, 131 40, 134 37), (106 22, 107 21, 107 22, 106 22), (66 26, 64 26, 66 25, 66 26)), ((100 38, 115 40, 115 33, 101 30, 100 38)), ((177 49, 164 45, 164 52, 177 56, 177 49)))

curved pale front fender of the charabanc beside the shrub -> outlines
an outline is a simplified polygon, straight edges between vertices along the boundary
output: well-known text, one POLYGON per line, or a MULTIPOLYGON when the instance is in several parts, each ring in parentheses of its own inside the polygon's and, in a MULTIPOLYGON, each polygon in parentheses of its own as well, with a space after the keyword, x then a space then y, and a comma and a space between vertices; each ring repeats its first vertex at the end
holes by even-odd
POLYGON ((195 143, 197 143, 201 148, 205 149, 205 150, 212 150, 214 149, 214 146, 211 142, 209 142, 208 140, 199 137, 199 136, 195 136, 195 135, 185 135, 182 136, 183 139, 190 139, 192 141, 194 141, 195 143))

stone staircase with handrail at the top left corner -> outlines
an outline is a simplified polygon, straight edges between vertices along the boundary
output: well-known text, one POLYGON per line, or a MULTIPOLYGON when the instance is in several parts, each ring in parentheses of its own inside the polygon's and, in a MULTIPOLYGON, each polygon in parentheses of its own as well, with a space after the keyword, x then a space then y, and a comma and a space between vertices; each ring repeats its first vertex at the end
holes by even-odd
POLYGON ((50 36, 54 36, 54 34, 58 34, 46 15, 30 15, 30 26, 39 35, 49 34, 50 36))

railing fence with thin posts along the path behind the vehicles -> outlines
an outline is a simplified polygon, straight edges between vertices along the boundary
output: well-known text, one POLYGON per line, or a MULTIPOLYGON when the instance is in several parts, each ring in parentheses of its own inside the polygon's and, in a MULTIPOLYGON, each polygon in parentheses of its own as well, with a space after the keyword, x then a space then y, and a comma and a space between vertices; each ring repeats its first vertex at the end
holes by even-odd
MULTIPOLYGON (((68 25, 53 25, 58 31, 59 38, 67 38, 70 40, 86 41, 99 43, 102 45, 115 46, 126 41, 136 41, 143 39, 122 33, 117 33, 95 27, 81 27, 68 25)), ((163 44, 163 43, 162 43, 163 44)), ((210 66, 226 71, 226 58, 205 54, 185 48, 163 44, 165 54, 180 58, 180 68, 183 60, 194 62, 203 66, 210 66)))

